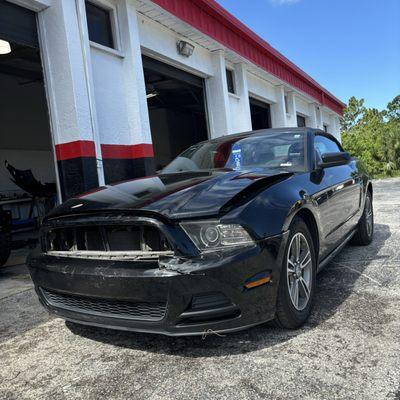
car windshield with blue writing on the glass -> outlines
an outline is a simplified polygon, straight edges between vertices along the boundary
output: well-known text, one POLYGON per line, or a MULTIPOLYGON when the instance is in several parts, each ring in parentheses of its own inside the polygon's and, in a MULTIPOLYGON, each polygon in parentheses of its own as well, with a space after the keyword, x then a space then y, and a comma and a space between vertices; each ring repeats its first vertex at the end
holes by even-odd
POLYGON ((275 132, 196 144, 175 158, 162 173, 225 168, 305 170, 305 134, 275 132))

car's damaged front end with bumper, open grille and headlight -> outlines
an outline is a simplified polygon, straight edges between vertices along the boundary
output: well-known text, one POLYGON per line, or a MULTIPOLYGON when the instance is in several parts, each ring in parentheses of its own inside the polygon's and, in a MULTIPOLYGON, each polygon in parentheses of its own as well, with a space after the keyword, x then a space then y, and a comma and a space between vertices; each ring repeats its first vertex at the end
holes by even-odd
POLYGON ((167 335, 271 319, 286 235, 260 240, 206 222, 128 213, 49 219, 28 262, 39 298, 67 320, 167 335))

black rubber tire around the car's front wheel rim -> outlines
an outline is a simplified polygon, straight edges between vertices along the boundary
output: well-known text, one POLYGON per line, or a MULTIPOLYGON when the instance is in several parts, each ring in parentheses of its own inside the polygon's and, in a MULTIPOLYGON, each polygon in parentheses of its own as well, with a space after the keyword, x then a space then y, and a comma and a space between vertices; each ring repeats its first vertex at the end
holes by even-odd
MULTIPOLYGON (((301 325, 306 322, 308 319, 311 308, 313 305, 314 300, 314 293, 315 293, 315 285, 316 285, 316 256, 314 250, 314 243, 310 234, 310 231, 307 228, 305 222, 301 219, 296 217, 291 226, 290 226, 290 234, 286 244, 285 255, 282 262, 282 270, 281 270, 281 277, 279 281, 279 288, 278 288, 278 297, 277 297, 277 304, 276 304, 276 314, 275 319, 273 321, 274 325, 279 328, 286 328, 286 329, 297 329, 301 325), (308 302, 306 303, 305 307, 301 310, 296 309, 293 305, 293 301, 291 299, 291 295, 289 294, 289 281, 291 279, 295 279, 294 274, 288 270, 289 262, 288 262, 288 254, 291 247, 291 243, 293 242, 294 236, 298 233, 301 233, 303 237, 306 239, 307 244, 309 246, 310 256, 311 256, 311 265, 309 270, 309 279, 310 279, 310 291, 308 302), (291 275, 291 278, 289 275, 291 275)), ((290 267, 291 268, 291 267, 290 267)))

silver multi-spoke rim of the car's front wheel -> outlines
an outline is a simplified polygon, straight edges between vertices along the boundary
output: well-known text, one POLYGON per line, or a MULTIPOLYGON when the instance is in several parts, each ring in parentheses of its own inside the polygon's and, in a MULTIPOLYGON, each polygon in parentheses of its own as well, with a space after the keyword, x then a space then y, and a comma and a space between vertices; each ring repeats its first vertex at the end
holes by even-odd
POLYGON ((298 232, 287 253, 287 287, 293 307, 302 311, 310 300, 312 285, 312 256, 306 237, 298 232))

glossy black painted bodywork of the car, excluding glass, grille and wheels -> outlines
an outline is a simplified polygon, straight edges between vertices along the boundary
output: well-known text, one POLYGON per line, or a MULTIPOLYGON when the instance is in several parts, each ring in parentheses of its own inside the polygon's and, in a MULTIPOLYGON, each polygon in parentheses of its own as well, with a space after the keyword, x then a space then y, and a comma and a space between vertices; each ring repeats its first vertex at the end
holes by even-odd
POLYGON ((272 319, 293 218, 300 215, 315 225, 313 234, 322 265, 354 232, 371 185, 362 164, 353 159, 327 168, 317 165, 314 137, 326 133, 293 131, 307 135, 305 172, 220 169, 156 175, 108 185, 65 202, 48 215, 44 230, 149 219, 173 243, 175 253, 144 263, 63 258, 37 250, 30 257, 29 268, 42 303, 57 315, 80 323, 167 335, 201 334, 207 329, 234 331, 272 319), (200 253, 179 222, 207 218, 241 224, 254 246, 200 253), (257 274, 272 279, 244 289, 244 283, 257 274), (51 306, 41 295, 41 287, 90 298, 166 301, 168 311, 158 323, 93 316, 51 306), (193 296, 210 292, 222 293, 231 311, 215 314, 215 310, 205 309, 202 322, 187 324, 183 316, 189 312, 193 296))

